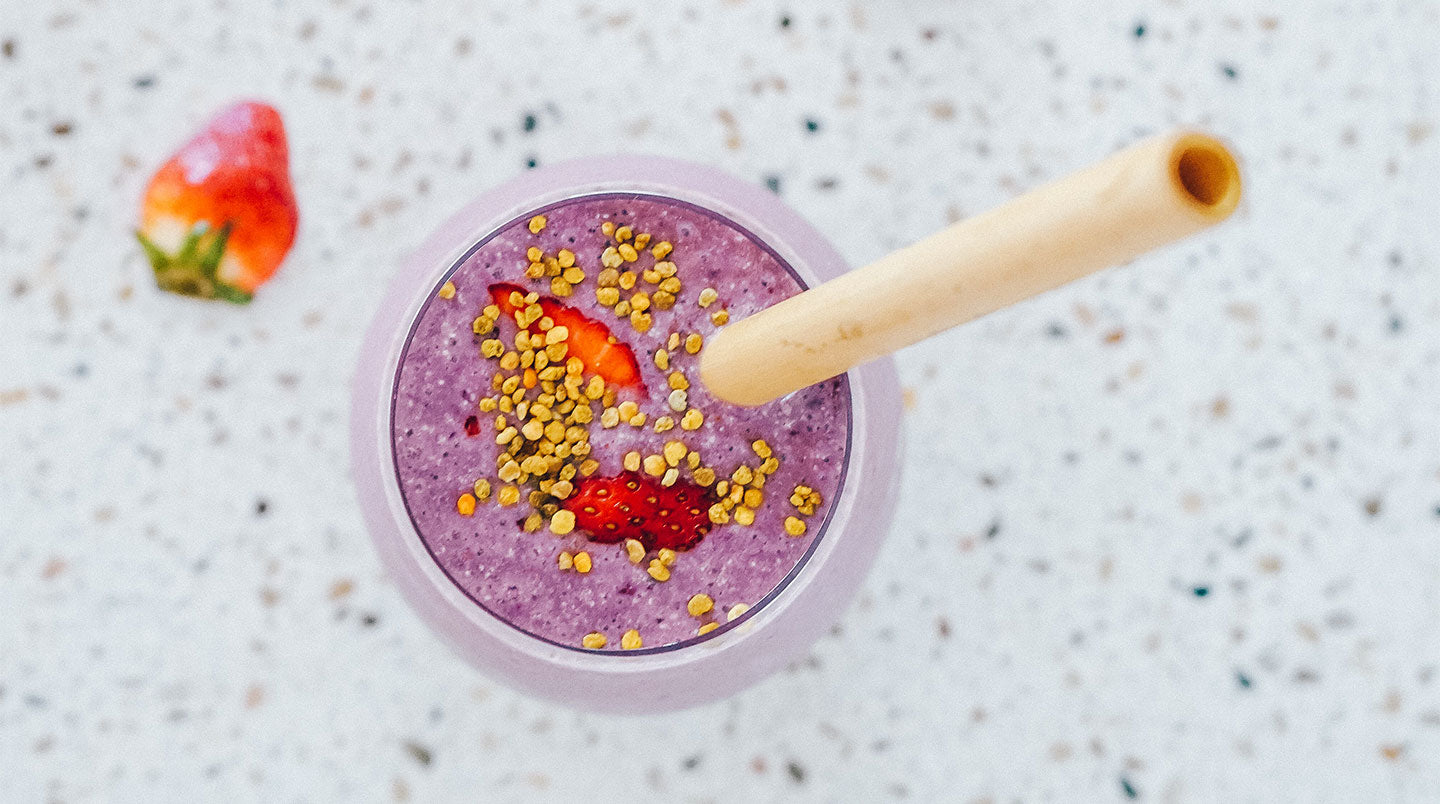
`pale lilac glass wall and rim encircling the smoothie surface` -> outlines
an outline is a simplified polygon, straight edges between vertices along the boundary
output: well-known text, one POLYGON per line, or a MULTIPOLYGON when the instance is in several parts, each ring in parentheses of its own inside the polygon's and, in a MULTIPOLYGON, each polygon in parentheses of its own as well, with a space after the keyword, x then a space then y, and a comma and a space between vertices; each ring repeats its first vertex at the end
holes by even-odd
MULTIPOLYGON (((626 196, 678 202, 727 222, 763 245, 801 287, 847 271, 824 238, 773 195, 707 167, 612 157, 534 170, 451 218, 393 281, 360 350, 351 465, 382 560, 415 609, 456 653, 513 687, 570 706, 657 712, 724 697, 755 683, 801 656, 841 615, 893 514, 900 393, 888 357, 847 373, 848 445, 840 494, 828 501, 828 516, 811 522, 806 552, 769 594, 703 638, 639 650, 585 650, 517 627, 468 594, 433 553, 433 539, 422 536, 419 517, 402 491, 393 431, 402 360, 416 337, 416 321, 428 304, 448 292, 446 282, 465 259, 505 226, 577 199, 626 196)), ((461 347, 474 352, 469 343, 461 347)), ((595 439, 605 437, 598 431, 595 439)), ((773 501, 783 504, 785 493, 773 501)))

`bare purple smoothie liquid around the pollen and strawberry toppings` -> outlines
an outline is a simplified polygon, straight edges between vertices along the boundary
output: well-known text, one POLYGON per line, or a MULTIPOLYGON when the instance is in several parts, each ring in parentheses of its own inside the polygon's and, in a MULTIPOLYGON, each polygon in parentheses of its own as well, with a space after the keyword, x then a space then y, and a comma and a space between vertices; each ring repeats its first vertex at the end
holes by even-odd
MULTIPOLYGON (((467 597, 516 628, 559 646, 580 648, 586 634, 600 633, 608 638, 605 651, 619 651, 621 635, 636 630, 645 648, 652 650, 706 638, 697 635, 700 627, 724 625, 726 612, 736 604, 757 609, 798 571, 821 539, 831 506, 841 494, 851 437, 848 380, 841 376, 760 408, 739 408, 706 392, 698 382, 698 356, 683 347, 667 350, 670 370, 661 370, 654 360, 655 352, 668 346, 671 333, 713 334, 719 329, 713 321, 717 311, 740 320, 799 292, 801 282, 770 249, 724 218, 678 200, 600 195, 560 202, 511 220, 461 258, 446 278, 454 294, 436 288, 400 357, 392 445, 405 507, 426 549, 467 597), (530 222, 537 213, 544 215, 546 225, 533 233, 530 222), (615 246, 615 239, 602 231, 605 222, 649 235, 649 246, 638 249, 638 259, 621 267, 622 271, 639 274, 652 268, 655 244, 674 246, 664 259, 675 264, 683 287, 674 307, 648 311, 652 323, 647 331, 596 300, 602 252, 615 246), (527 496, 521 494, 511 506, 497 501, 497 490, 505 486, 495 470, 503 450, 495 442, 497 412, 484 412, 480 405, 482 398, 497 395, 491 378, 498 366, 495 359, 481 356, 481 343, 498 337, 510 347, 517 327, 501 317, 494 333, 481 336, 472 331, 472 323, 491 304, 494 284, 508 282, 552 295, 550 278, 524 275, 530 248, 540 248, 547 256, 560 249, 575 254, 586 278, 575 285, 573 295, 557 301, 606 324, 631 347, 641 370, 645 390, 621 389, 619 401, 636 402, 647 415, 644 426, 602 428, 603 405, 593 406, 589 458, 598 464, 595 477, 621 474, 626 452, 658 454, 672 439, 698 451, 701 465, 713 467, 721 478, 740 465, 760 464, 752 450, 756 439, 766 441, 779 460, 768 477, 765 501, 755 510, 753 524, 734 520, 716 524, 698 545, 678 553, 664 582, 647 573, 654 552, 636 565, 622 545, 590 542, 582 529, 564 536, 556 536, 547 526, 527 532, 523 523, 534 510, 527 496), (706 288, 713 288, 717 300, 701 308, 697 300, 706 288), (655 432, 661 416, 675 421, 683 416, 667 403, 667 378, 674 370, 691 383, 688 406, 703 411, 704 424, 694 431, 675 426, 655 432), (478 419, 475 435, 467 432, 469 416, 478 419), (487 478, 492 493, 471 516, 464 516, 456 500, 471 493, 478 478, 487 478), (796 486, 819 493, 822 501, 812 514, 798 512, 791 503, 796 486), (791 516, 805 522, 802 536, 786 533, 785 520, 791 516), (588 573, 557 566, 562 552, 582 550, 593 563, 588 573), (697 594, 708 595, 714 609, 691 615, 687 602, 697 594)), ((655 287, 639 281, 634 290, 655 287)), ((585 379, 589 376, 586 372, 585 379)), ((518 424, 514 415, 507 418, 518 424)), ((693 478, 685 463, 678 470, 683 481, 693 478)), ((583 478, 576 477, 575 483, 583 478)), ((521 484, 524 493, 533 487, 521 484)), ((711 631, 716 633, 720 631, 711 631)))

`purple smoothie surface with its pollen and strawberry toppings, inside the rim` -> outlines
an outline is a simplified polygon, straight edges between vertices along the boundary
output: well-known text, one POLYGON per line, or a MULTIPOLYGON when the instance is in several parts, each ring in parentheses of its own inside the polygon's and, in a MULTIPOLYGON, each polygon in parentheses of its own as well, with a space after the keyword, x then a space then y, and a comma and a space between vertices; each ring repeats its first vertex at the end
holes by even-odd
POLYGON ((706 638, 760 605, 840 497, 850 385, 740 408, 697 362, 801 290, 753 235, 661 196, 583 196, 481 241, 420 310, 395 385, 400 491, 439 566, 577 650, 706 638))

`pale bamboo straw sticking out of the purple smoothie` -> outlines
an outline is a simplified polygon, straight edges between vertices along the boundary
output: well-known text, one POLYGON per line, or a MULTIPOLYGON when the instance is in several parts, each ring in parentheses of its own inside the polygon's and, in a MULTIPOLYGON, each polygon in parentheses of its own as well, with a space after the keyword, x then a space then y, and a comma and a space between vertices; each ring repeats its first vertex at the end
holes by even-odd
POLYGON ((1200 232, 1237 203, 1240 170, 1218 140, 1152 137, 730 324, 700 376, 720 399, 763 405, 1200 232))

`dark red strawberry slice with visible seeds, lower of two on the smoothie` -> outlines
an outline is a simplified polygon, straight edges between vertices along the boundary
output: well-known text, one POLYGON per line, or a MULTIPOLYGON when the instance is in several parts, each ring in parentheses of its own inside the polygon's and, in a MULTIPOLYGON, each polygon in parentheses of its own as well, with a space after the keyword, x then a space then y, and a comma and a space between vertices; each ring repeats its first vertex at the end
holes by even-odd
POLYGON ((638 539, 647 550, 688 550, 711 527, 708 491, 688 483, 667 488, 635 471, 588 477, 562 504, 592 542, 605 545, 638 539))

